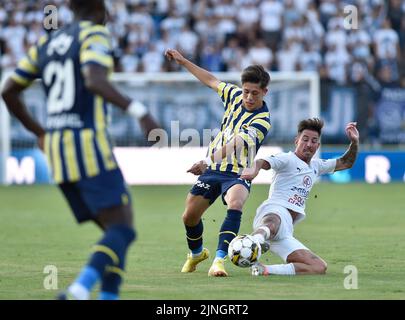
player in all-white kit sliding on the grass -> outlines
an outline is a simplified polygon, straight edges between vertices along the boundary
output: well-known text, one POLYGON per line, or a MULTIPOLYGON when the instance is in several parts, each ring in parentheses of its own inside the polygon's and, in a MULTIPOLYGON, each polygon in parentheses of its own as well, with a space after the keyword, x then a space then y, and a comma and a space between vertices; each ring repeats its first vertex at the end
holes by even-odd
POLYGON ((298 124, 295 151, 280 153, 255 161, 241 178, 253 180, 261 169, 275 171, 269 197, 256 211, 252 236, 262 253, 269 250, 286 263, 252 266, 252 275, 324 274, 327 264, 294 238, 294 225, 305 218, 305 201, 318 176, 351 168, 356 160, 359 132, 355 122, 346 126, 351 143, 339 159, 313 159, 320 146, 323 121, 317 118, 298 124))

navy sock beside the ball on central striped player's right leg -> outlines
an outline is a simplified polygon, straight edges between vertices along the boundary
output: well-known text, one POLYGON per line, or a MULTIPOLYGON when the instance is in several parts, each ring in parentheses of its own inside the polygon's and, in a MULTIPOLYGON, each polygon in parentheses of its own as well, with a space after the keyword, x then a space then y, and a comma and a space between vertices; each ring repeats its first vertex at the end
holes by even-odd
POLYGON ((229 209, 227 211, 221 230, 219 231, 219 241, 216 257, 225 258, 228 255, 228 246, 239 232, 242 211, 229 209))

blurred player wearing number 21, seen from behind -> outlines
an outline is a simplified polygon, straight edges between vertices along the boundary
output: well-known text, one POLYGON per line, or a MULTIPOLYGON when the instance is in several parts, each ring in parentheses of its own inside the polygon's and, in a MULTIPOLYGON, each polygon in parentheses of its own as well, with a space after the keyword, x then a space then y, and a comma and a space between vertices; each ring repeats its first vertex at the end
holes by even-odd
POLYGON ((2 96, 9 111, 38 137, 53 180, 77 221, 94 221, 104 231, 88 263, 60 298, 89 299, 101 282, 99 298, 118 299, 135 230, 130 194, 107 134, 106 102, 133 115, 146 134, 158 125, 144 105, 124 97, 108 81, 113 57, 104 0, 71 0, 70 7, 74 21, 29 49, 2 96), (42 79, 47 96, 46 128, 20 98, 35 79, 42 79))

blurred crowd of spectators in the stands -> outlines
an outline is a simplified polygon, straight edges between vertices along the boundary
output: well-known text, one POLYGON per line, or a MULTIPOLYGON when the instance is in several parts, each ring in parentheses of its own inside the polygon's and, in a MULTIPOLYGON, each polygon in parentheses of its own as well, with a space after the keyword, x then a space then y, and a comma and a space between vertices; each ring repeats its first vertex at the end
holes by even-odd
MULTIPOLYGON (((0 0, 0 63, 13 68, 45 33, 44 10, 58 25, 72 20, 64 0, 0 0)), ((403 0, 115 0, 109 4, 116 71, 179 71, 167 48, 211 71, 261 64, 273 71, 313 71, 345 84, 375 77, 405 86, 403 0), (358 10, 345 29, 345 6, 358 10)), ((372 81, 372 79, 370 79, 372 81)))

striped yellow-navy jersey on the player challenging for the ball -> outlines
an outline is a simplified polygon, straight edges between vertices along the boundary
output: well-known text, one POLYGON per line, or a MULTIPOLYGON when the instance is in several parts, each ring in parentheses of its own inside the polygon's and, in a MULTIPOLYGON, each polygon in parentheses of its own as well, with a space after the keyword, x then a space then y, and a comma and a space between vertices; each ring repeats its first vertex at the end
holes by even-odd
POLYGON ((241 174, 242 170, 253 164, 253 160, 266 137, 271 124, 270 113, 266 103, 252 112, 242 105, 242 89, 236 85, 221 82, 218 85, 218 94, 225 107, 222 118, 221 131, 211 142, 208 155, 221 149, 235 136, 244 141, 244 146, 239 154, 234 151, 221 163, 213 163, 211 170, 234 172, 241 174))

